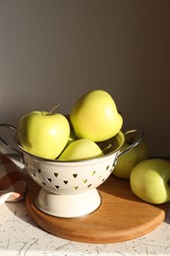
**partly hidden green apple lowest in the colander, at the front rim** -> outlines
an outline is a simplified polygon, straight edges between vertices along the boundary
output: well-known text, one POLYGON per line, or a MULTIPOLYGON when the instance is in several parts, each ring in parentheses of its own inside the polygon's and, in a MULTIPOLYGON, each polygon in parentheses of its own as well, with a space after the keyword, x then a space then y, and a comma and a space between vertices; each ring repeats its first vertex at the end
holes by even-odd
POLYGON ((100 148, 91 140, 78 139, 62 152, 58 160, 89 160, 104 156, 100 148))

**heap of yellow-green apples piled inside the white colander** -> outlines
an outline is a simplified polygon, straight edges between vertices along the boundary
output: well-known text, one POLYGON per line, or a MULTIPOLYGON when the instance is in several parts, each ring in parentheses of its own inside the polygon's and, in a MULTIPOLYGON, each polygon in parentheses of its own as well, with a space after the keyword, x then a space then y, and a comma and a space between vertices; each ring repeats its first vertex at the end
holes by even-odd
POLYGON ((96 144, 115 136, 123 118, 108 93, 91 91, 76 100, 70 120, 61 114, 31 111, 19 122, 18 138, 28 153, 49 160, 86 160, 103 156, 96 144))

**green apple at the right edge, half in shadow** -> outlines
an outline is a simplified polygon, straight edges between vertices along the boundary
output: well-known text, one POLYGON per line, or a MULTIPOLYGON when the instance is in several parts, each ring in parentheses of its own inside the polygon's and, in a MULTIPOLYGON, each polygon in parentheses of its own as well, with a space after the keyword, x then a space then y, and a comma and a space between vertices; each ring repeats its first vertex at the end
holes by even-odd
POLYGON ((142 160, 130 176, 132 191, 152 204, 170 201, 170 162, 161 159, 142 160))

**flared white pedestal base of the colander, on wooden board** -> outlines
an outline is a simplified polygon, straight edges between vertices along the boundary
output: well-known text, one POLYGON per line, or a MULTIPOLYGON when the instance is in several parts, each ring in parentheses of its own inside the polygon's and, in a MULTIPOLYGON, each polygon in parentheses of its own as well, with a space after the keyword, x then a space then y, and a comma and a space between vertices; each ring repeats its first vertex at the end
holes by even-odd
POLYGON ((61 218, 83 217, 96 211, 100 205, 101 196, 95 188, 72 195, 57 195, 41 188, 36 198, 36 207, 40 211, 61 218))

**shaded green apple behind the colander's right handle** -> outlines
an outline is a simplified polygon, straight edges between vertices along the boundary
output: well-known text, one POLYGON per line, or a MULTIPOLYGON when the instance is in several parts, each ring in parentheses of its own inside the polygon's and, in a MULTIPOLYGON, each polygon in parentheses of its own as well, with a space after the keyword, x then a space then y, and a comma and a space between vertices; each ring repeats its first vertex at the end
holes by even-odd
MULTIPOLYGON (((125 151, 133 144, 132 141, 125 141, 121 151, 125 151)), ((135 148, 118 158, 113 174, 119 178, 130 178, 132 169, 142 160, 148 159, 148 148, 146 142, 142 140, 135 148)))

